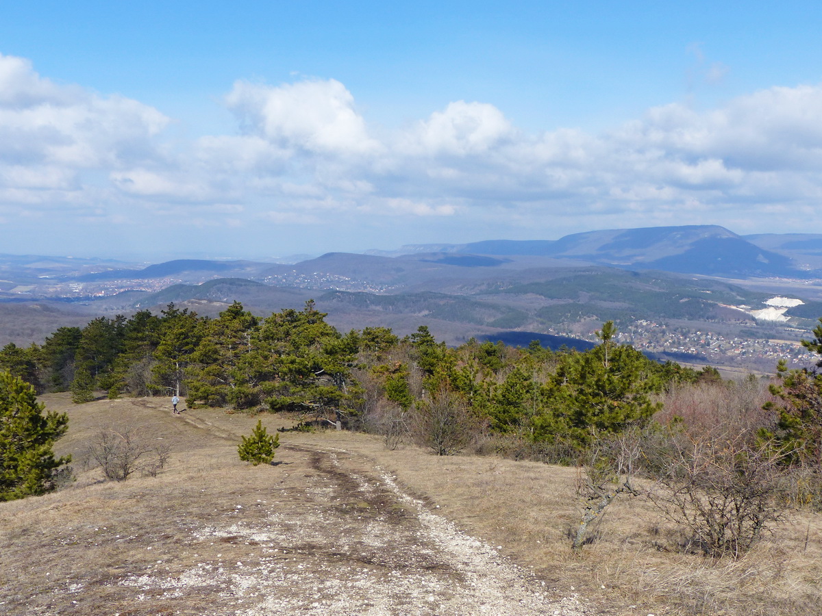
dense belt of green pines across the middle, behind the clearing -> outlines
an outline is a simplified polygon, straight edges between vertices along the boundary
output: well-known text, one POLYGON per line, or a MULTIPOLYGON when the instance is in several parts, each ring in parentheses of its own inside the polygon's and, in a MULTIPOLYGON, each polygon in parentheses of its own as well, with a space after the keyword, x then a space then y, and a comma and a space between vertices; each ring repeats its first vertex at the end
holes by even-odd
POLYGON ((76 402, 99 390, 111 398, 179 392, 189 405, 302 411, 353 426, 392 407, 422 411, 446 392, 474 425, 584 447, 649 421, 658 410, 653 394, 668 384, 700 378, 617 345, 615 333, 605 324, 588 352, 473 339, 449 348, 424 326, 403 339, 381 327, 339 333, 312 301, 265 319, 238 302, 217 318, 169 304, 159 315, 141 310, 61 328, 42 346, 9 344, 0 370, 39 392, 70 389, 76 402))

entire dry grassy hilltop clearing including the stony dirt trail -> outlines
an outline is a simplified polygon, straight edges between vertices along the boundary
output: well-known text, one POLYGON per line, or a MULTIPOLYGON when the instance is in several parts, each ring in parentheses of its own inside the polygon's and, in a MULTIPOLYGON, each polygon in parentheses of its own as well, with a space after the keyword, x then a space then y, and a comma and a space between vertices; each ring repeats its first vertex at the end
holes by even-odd
POLYGON ((818 516, 746 558, 668 549, 647 503, 615 502, 582 554, 575 471, 498 457, 436 457, 348 432, 280 434, 275 466, 240 462, 257 419, 165 398, 65 410, 76 482, 0 503, 7 614, 808 614, 819 596, 818 516), (101 427, 171 450, 155 477, 84 470, 101 427))

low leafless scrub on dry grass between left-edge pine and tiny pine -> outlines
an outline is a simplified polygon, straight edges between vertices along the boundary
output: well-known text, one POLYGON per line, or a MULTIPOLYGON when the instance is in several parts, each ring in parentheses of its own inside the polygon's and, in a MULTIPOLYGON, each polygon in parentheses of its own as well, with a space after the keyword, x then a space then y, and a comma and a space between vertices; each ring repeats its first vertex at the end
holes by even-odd
POLYGON ((169 461, 169 451, 168 445, 159 444, 132 426, 99 430, 86 448, 88 459, 113 481, 125 481, 138 471, 157 476, 169 461))

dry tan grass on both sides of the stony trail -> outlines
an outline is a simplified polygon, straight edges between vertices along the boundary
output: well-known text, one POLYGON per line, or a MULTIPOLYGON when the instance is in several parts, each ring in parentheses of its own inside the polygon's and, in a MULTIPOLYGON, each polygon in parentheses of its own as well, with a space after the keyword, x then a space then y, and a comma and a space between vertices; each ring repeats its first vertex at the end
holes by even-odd
MULTIPOLYGON (((53 394, 43 401, 69 413, 69 432, 56 449, 72 453, 76 479, 53 494, 0 503, 0 614, 313 614, 270 598, 269 611, 242 612, 261 605, 261 597, 253 588, 227 590, 224 580, 231 577, 231 588, 242 587, 241 565, 315 579, 321 576, 318 555, 349 571, 346 536, 358 533, 358 565, 367 574, 367 529, 377 522, 396 524, 401 542, 399 523, 410 515, 379 491, 367 497, 357 491, 353 480, 362 483, 377 471, 394 477, 428 510, 499 546, 556 595, 578 593, 590 614, 820 613, 818 514, 795 513, 788 526, 743 559, 713 561, 682 554, 677 529, 649 503, 625 497, 607 510, 583 553, 573 554, 569 531, 581 506, 571 468, 436 457, 413 446, 390 451, 379 438, 334 430, 280 434, 275 465, 250 467, 238 460, 240 435, 250 434, 258 418, 270 432, 291 425, 289 418, 213 409, 173 416, 160 398, 75 406, 67 394, 53 394), (157 476, 135 474, 118 483, 85 467, 92 435, 125 424, 169 446, 169 462, 157 476), (335 465, 339 458, 336 470, 329 456, 335 465), (334 485, 323 483, 330 473, 336 475, 334 485), (307 498, 307 486, 314 500, 307 498), (317 499, 327 501, 326 517, 318 517, 317 499), (343 512, 348 517, 340 517, 343 512), (272 516, 302 542, 289 543, 284 536, 279 549, 266 551, 261 540, 243 534, 272 516), (353 526, 360 518, 371 526, 353 526), (321 524, 328 519, 337 522, 321 524), (213 531, 218 527, 235 530, 213 531), (328 541, 345 545, 322 547, 328 541), (196 591, 175 591, 170 581, 192 572, 201 577, 187 588, 196 591)), ((376 556, 369 558, 373 563, 376 556)), ((397 606, 388 613, 404 612, 397 606)))

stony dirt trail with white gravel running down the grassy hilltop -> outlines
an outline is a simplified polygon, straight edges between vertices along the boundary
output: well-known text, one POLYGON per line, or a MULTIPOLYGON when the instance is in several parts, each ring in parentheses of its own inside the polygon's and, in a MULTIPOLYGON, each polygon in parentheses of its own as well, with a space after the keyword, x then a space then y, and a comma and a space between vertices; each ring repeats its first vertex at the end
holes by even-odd
MULTIPOLYGON (((199 430, 223 427, 189 415, 199 430)), ((236 439, 235 439, 236 440, 236 439)), ((142 591, 207 584, 251 607, 234 614, 590 614, 575 596, 556 598, 497 549, 459 531, 367 458, 339 448, 284 444, 304 489, 270 504, 265 517, 215 523, 198 538, 255 545, 254 565, 210 563, 175 579, 137 578, 142 591)), ((229 548, 226 547, 224 551, 229 548)), ((225 562, 232 561, 224 554, 225 562)))

